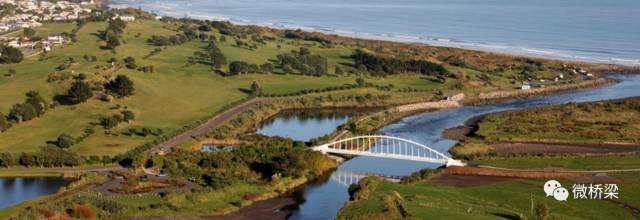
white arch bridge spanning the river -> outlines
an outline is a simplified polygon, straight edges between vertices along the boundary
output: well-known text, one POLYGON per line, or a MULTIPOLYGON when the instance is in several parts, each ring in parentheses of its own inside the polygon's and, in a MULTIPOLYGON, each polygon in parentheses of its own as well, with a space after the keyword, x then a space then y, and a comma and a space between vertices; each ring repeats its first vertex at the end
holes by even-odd
POLYGON ((322 153, 413 160, 448 166, 465 166, 434 149, 412 140, 385 135, 350 137, 312 148, 322 153))

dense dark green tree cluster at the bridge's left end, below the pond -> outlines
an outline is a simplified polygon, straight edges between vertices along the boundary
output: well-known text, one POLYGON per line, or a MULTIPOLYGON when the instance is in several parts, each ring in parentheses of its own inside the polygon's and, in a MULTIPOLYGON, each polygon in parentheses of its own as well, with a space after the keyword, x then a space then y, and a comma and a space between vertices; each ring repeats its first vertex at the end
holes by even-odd
POLYGON ((230 152, 180 152, 172 157, 154 158, 154 166, 171 175, 196 177, 207 187, 222 188, 236 183, 257 183, 278 178, 319 174, 333 161, 291 140, 269 138, 230 152))

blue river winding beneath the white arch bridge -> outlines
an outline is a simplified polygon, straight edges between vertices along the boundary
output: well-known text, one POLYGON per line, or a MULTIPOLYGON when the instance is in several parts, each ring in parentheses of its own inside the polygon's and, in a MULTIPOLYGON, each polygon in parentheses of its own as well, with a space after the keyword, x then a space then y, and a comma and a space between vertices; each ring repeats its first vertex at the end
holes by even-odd
MULTIPOLYGON (((621 82, 613 86, 593 90, 514 100, 493 105, 464 106, 451 110, 422 113, 403 118, 397 123, 382 128, 379 132, 385 135, 413 140, 448 155, 449 148, 457 142, 442 138, 442 132, 447 128, 460 126, 474 116, 491 112, 568 102, 588 102, 640 96, 640 75, 614 75, 612 78, 618 79, 621 82)), ((291 135, 298 132, 304 132, 305 135, 314 134, 315 126, 313 123, 306 123, 304 127, 300 127, 298 124, 301 122, 291 120, 291 116, 287 117, 289 117, 287 121, 271 124, 271 126, 267 126, 267 129, 282 129, 282 131, 292 132, 291 135), (287 129, 289 125, 295 126, 296 129, 287 129)), ((278 119, 276 118, 275 120, 278 119)), ((309 122, 308 120, 307 117, 307 122, 309 122)), ((316 133, 316 135, 320 136, 324 135, 324 133, 316 133)), ((333 219, 340 207, 349 199, 347 193, 348 183, 345 184, 345 181, 343 181, 344 178, 348 178, 345 176, 354 176, 354 173, 405 176, 421 169, 436 168, 438 166, 440 166, 440 164, 373 157, 355 157, 341 164, 338 170, 327 180, 307 185, 303 192, 305 201, 293 212, 290 219, 333 219)), ((352 178, 352 182, 358 179, 359 178, 352 178)))

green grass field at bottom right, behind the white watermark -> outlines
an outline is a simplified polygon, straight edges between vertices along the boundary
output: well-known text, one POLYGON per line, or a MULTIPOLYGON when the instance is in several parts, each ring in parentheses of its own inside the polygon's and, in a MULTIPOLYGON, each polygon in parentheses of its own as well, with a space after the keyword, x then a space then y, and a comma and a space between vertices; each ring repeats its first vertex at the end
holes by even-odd
MULTIPOLYGON (((614 174, 620 180, 618 201, 637 207, 637 173, 614 174), (626 193, 626 194, 625 194, 626 193)), ((338 219, 633 219, 632 212, 606 200, 558 202, 545 197, 546 180, 508 180, 453 187, 421 181, 395 184, 377 178, 360 181, 338 219), (545 208, 542 208, 544 206, 545 208)), ((559 180, 571 186, 571 180, 559 180)), ((354 188, 355 189, 355 188, 354 188)))

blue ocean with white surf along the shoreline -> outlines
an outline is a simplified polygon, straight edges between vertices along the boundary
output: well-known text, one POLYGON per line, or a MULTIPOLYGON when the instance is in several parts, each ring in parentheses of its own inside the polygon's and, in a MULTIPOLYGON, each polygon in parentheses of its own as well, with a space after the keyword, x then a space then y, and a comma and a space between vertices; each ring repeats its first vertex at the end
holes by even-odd
POLYGON ((638 0, 110 0, 160 15, 640 65, 638 0))

